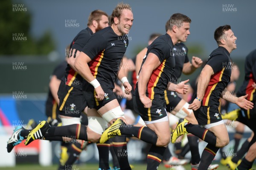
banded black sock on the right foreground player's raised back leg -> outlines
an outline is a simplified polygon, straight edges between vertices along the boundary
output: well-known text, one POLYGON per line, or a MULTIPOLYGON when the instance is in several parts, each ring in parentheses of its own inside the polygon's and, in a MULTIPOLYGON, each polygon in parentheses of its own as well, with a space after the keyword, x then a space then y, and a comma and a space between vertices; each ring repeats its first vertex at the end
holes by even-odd
POLYGON ((216 136, 209 130, 195 124, 187 124, 185 128, 188 133, 192 133, 203 141, 206 141, 208 144, 216 146, 216 136))

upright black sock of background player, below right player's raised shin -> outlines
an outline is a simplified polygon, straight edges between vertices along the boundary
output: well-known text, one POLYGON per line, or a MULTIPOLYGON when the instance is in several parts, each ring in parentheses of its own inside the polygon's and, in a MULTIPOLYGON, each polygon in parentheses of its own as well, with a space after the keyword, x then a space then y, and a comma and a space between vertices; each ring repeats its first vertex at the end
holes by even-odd
POLYGON ((189 141, 189 148, 190 148, 190 152, 191 152, 191 163, 193 165, 195 164, 199 164, 200 162, 200 153, 199 153, 199 148, 198 148, 198 143, 199 143, 199 139, 197 136, 189 134, 187 135, 188 137, 188 141, 189 141))

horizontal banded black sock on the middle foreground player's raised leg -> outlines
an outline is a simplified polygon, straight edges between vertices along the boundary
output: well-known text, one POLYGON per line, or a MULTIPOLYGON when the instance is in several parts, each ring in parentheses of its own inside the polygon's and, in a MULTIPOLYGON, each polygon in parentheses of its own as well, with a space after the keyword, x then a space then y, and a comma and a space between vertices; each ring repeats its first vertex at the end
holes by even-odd
POLYGON ((148 127, 135 127, 123 124, 120 128, 121 134, 132 135, 149 144, 157 144, 157 134, 148 127))

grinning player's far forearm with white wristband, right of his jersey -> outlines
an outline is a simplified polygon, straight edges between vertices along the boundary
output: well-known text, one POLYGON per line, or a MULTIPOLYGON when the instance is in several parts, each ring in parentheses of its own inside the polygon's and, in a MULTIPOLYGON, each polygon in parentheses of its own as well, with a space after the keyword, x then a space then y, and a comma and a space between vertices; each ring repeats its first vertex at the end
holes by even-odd
MULTIPOLYGON (((123 58, 124 59, 124 58, 123 58)), ((128 82, 128 79, 126 77, 126 73, 125 73, 125 63, 124 60, 122 59, 121 63, 120 63, 120 69, 117 72, 117 78, 122 82, 123 86, 125 87, 125 93, 129 94, 131 92, 131 84, 128 82)))

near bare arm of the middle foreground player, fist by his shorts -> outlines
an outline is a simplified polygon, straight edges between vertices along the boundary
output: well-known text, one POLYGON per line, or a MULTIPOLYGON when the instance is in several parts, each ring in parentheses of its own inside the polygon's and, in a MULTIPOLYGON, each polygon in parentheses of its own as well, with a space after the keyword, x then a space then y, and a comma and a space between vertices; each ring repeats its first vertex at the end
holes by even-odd
POLYGON ((145 108, 151 107, 151 99, 146 96, 146 88, 149 78, 154 69, 160 65, 160 60, 154 53, 148 53, 148 56, 141 67, 140 76, 138 79, 138 91, 140 101, 144 104, 145 108))

